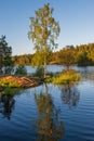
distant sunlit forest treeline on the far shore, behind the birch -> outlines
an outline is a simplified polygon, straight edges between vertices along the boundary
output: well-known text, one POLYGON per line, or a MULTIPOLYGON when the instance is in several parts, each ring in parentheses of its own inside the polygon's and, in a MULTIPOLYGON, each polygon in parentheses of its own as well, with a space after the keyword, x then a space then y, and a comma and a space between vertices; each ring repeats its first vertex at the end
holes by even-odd
MULTIPOLYGON (((35 54, 24 54, 12 56, 15 65, 31 65, 35 54)), ((67 46, 59 51, 53 52, 50 64, 79 66, 94 65, 94 43, 67 46)))

